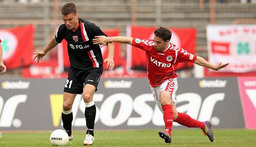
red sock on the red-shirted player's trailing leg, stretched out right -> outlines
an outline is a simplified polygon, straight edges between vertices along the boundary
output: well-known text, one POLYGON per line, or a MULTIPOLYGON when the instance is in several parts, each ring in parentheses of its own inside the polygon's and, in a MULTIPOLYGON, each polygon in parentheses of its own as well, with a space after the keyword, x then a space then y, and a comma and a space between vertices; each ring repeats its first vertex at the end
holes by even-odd
POLYGON ((175 120, 175 122, 189 128, 193 127, 193 128, 201 128, 202 130, 204 129, 204 122, 195 120, 185 113, 178 112, 178 114, 179 114, 178 118, 175 120))

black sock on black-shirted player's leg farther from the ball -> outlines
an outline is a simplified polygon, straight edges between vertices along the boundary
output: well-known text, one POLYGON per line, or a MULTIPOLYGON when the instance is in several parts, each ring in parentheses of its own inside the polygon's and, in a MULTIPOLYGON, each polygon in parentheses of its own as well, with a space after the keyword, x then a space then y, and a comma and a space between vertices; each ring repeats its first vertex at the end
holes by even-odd
POLYGON ((94 122, 95 122, 95 116, 96 116, 96 106, 95 104, 90 107, 85 108, 85 119, 86 119, 86 126, 88 128, 86 134, 91 134, 94 136, 94 122))

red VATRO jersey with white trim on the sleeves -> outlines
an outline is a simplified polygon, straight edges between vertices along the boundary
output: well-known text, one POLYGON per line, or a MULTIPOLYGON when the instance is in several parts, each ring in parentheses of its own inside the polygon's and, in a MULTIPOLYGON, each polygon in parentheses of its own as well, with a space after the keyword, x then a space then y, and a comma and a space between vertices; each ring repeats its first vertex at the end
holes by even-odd
POLYGON ((195 62, 196 55, 169 43, 164 51, 154 49, 154 40, 132 39, 132 46, 146 51, 147 76, 152 87, 159 86, 167 79, 177 77, 175 69, 179 62, 195 62))

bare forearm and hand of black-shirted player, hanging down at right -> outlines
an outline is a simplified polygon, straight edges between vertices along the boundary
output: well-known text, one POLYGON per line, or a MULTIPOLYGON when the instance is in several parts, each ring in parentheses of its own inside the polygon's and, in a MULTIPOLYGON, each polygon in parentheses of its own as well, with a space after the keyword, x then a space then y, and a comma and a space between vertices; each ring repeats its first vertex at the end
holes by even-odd
POLYGON ((114 55, 115 55, 115 45, 114 43, 107 43, 108 46, 108 58, 104 60, 107 62, 107 69, 112 70, 115 67, 114 55))

